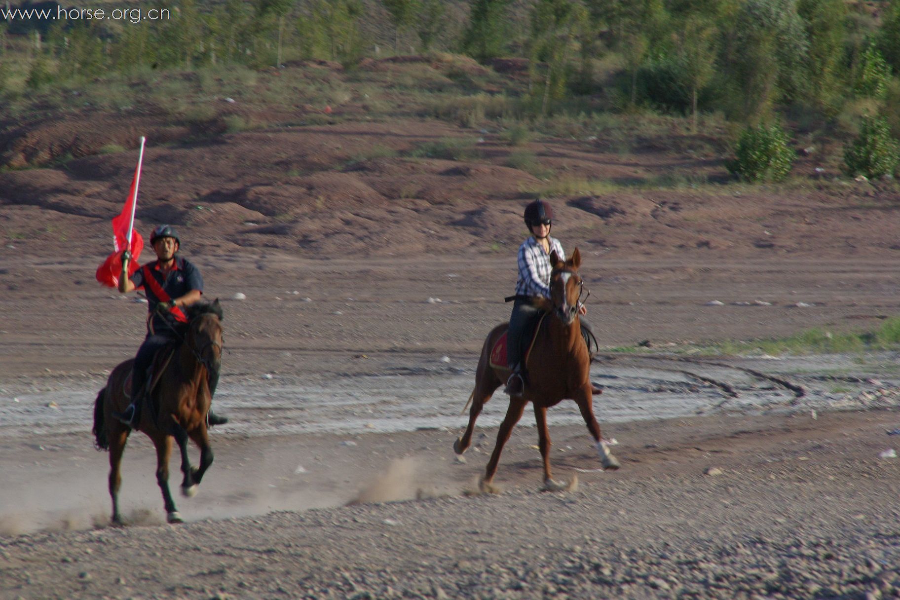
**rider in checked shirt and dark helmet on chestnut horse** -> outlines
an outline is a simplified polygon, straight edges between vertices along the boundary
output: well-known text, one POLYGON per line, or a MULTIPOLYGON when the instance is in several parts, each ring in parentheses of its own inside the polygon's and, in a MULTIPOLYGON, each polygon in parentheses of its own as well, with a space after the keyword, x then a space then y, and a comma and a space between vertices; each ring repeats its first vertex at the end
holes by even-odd
MULTIPOLYGON (((550 255, 554 250, 561 261, 565 260, 563 245, 555 237, 550 237, 554 224, 554 210, 550 205, 541 200, 533 201, 525 208, 524 217, 531 237, 518 246, 518 281, 507 334, 507 360, 512 374, 503 390, 513 398, 520 398, 525 391, 527 373, 522 361, 522 337, 528 323, 538 313, 532 299, 550 298, 550 272, 553 271, 550 255)), ((579 312, 586 315, 588 309, 581 304, 579 312)))

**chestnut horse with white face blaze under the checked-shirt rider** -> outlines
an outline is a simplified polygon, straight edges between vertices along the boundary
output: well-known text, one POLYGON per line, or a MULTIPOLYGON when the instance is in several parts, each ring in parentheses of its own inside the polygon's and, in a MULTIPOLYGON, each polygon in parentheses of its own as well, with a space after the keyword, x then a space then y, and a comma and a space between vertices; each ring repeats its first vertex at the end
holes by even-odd
MULTIPOLYGON (((575 248, 572 257, 563 262, 554 252, 550 255, 550 264, 553 265, 553 272, 550 275, 551 297, 537 300, 538 308, 544 309, 549 314, 538 328, 534 345, 527 358, 528 384, 525 394, 521 399, 509 400, 506 417, 500 424, 500 431, 497 432, 497 444, 494 446, 494 452, 480 484, 482 491, 485 492, 497 491, 493 486, 493 479, 500 462, 500 452, 503 452, 503 445, 509 440, 513 426, 522 417, 529 401, 535 407, 539 447, 544 459, 544 489, 565 488, 563 484, 555 482, 550 475, 550 434, 547 432, 547 408, 563 399, 573 399, 578 404, 581 416, 597 443, 597 452, 603 468, 605 470, 619 468, 619 462, 603 442, 600 426, 594 418, 590 354, 581 336, 578 312, 582 287, 581 277, 578 274, 581 254, 578 248, 575 248)), ((466 427, 463 436, 454 443, 457 454, 465 452, 472 443, 475 419, 481 414, 484 403, 491 399, 494 390, 509 378, 509 369, 491 366, 491 350, 508 327, 508 323, 494 327, 484 341, 482 357, 475 372, 475 389, 470 397, 472 409, 469 412, 469 426, 466 427)))

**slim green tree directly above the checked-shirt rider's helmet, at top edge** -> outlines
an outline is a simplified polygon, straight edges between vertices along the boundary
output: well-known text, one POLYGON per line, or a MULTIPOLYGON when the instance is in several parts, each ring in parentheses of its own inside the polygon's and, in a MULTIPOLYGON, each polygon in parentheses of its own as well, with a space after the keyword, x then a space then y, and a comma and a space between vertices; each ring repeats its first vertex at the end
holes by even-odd
POLYGON ((574 0, 538 0, 531 12, 529 69, 534 79, 544 63, 541 114, 551 97, 563 94, 566 69, 576 40, 587 28, 588 13, 574 0))

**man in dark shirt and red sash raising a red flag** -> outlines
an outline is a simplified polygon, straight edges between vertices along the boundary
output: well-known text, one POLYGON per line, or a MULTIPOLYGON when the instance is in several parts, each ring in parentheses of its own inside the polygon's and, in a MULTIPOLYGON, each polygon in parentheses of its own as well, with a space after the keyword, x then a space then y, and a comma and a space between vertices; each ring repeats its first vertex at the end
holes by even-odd
MULTIPOLYGON (((121 255, 119 291, 126 293, 143 287, 147 294, 147 336, 134 357, 131 372, 131 404, 123 412, 112 413, 132 429, 140 423, 142 400, 148 392, 148 371, 157 352, 179 338, 178 330, 187 318, 182 309, 200 300, 203 278, 200 271, 187 259, 178 255, 181 240, 171 225, 160 225, 150 235, 150 246, 157 253, 157 260, 144 264, 129 278, 128 266, 131 254, 121 255)), ((210 398, 219 383, 219 373, 210 372, 210 398)), ((209 411, 210 425, 228 423, 228 419, 209 411)))

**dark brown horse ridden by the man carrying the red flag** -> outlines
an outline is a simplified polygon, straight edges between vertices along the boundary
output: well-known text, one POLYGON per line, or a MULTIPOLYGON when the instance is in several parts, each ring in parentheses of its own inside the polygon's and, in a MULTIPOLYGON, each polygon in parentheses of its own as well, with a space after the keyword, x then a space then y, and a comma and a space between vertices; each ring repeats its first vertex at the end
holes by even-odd
MULTIPOLYGON (((181 523, 181 515, 168 488, 168 462, 172 453, 172 439, 181 451, 181 470, 184 480, 181 491, 192 497, 203 473, 212 464, 212 450, 207 433, 206 414, 210 410, 209 372, 219 373, 222 351, 222 309, 219 300, 197 303, 187 310, 189 325, 179 332, 182 341, 175 346, 167 363, 154 363, 150 393, 144 396, 138 428, 157 448, 157 483, 166 504, 169 523, 181 523), (158 366, 157 366, 158 365, 158 366), (187 440, 200 447, 200 468, 191 466, 187 457, 187 440)), ((166 351, 164 350, 163 353, 166 351)), ((131 433, 112 417, 112 411, 122 411, 129 404, 124 384, 134 359, 116 366, 110 373, 106 387, 94 402, 94 436, 96 446, 110 452, 109 488, 112 496, 112 524, 121 525, 119 488, 121 487, 121 456, 131 433)))

